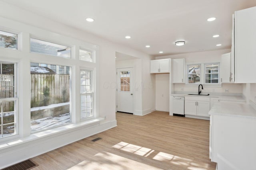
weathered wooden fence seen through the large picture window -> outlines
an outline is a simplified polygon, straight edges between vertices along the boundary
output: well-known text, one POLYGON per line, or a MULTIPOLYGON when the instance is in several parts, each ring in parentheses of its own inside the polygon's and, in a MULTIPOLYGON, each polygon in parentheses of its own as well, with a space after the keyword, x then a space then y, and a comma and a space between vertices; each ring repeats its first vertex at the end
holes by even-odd
POLYGON ((70 101, 69 74, 31 74, 31 107, 70 101))

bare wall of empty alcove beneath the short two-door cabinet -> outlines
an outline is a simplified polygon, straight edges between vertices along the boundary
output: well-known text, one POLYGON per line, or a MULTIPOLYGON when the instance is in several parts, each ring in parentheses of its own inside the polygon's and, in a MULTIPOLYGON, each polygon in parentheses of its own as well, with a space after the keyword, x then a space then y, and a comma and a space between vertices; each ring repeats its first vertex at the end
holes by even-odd
POLYGON ((156 74, 156 110, 169 112, 170 74, 156 74))

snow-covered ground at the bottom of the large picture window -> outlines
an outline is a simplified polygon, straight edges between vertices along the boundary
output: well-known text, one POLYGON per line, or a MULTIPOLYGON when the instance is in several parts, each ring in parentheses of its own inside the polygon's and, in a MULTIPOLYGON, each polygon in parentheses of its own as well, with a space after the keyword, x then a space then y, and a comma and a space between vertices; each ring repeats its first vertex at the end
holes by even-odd
POLYGON ((50 127, 69 123, 70 121, 70 113, 65 113, 54 117, 44 117, 42 119, 36 119, 31 121, 31 131, 47 129, 50 127))

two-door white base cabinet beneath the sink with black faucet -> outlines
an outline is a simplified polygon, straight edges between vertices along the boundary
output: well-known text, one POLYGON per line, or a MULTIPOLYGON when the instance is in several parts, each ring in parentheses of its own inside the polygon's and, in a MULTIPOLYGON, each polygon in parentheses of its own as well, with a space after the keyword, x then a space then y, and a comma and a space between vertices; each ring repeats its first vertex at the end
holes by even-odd
POLYGON ((185 97, 185 115, 210 117, 210 98, 185 97))

